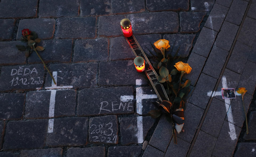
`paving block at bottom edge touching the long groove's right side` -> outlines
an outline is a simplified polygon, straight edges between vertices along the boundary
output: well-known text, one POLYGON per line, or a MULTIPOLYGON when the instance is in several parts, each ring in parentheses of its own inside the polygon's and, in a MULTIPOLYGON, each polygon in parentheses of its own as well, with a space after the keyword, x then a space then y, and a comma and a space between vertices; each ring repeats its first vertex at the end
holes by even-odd
POLYGON ((216 141, 217 141, 217 138, 209 134, 206 134, 203 131, 199 131, 197 140, 195 141, 195 144, 191 151, 190 156, 191 157, 211 156, 211 153, 213 152, 213 148, 215 146, 216 141))

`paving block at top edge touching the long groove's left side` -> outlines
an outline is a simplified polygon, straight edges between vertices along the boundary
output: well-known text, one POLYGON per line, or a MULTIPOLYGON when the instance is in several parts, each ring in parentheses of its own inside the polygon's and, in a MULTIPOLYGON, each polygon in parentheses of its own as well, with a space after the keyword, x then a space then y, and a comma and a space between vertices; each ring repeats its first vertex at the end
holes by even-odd
POLYGON ((248 2, 242 0, 233 0, 229 12, 227 13, 226 21, 240 25, 245 14, 248 2))

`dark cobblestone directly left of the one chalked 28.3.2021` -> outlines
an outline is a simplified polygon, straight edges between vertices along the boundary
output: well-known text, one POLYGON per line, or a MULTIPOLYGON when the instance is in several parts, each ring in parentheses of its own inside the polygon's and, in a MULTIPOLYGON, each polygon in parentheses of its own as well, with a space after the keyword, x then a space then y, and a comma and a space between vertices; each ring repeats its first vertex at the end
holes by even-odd
POLYGON ((87 145, 88 118, 54 119, 53 132, 47 133, 46 146, 87 145))

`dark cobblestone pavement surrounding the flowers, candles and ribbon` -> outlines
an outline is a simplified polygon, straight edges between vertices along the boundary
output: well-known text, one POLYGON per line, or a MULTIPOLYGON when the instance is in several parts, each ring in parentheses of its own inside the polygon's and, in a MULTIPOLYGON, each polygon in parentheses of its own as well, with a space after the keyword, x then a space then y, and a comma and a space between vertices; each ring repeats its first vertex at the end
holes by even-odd
POLYGON ((255 27, 256 0, 0 0, 0 156, 256 156, 255 27), (164 117, 147 116, 157 96, 123 18, 146 53, 167 39, 192 67, 177 145, 164 117), (25 28, 56 85, 15 47, 25 28), (248 90, 248 135, 241 95, 224 101, 222 87, 248 90))

